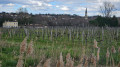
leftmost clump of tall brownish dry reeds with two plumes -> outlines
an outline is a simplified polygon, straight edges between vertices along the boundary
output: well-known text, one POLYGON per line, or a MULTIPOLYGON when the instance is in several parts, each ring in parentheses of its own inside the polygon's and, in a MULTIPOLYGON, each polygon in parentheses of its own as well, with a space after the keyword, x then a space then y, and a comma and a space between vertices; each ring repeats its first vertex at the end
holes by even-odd
POLYGON ((33 41, 31 40, 27 48, 27 37, 20 44, 20 55, 16 67, 25 67, 26 58, 33 53, 33 41), (24 61, 23 61, 24 57, 24 61))

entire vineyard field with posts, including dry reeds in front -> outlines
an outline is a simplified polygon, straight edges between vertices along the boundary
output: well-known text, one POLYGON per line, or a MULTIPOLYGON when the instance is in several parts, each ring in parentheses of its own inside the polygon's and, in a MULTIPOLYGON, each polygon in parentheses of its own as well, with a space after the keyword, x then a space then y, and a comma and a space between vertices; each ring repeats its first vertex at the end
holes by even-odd
POLYGON ((120 67, 120 28, 0 28, 0 67, 120 67))

